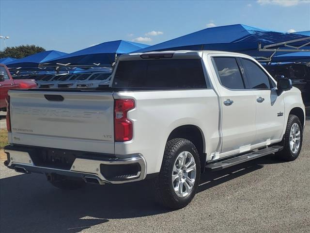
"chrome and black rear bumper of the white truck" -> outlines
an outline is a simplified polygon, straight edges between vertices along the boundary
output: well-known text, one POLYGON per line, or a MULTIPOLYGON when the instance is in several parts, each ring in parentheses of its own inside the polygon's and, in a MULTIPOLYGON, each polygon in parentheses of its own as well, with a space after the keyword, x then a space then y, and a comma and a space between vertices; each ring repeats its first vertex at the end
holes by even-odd
POLYGON ((27 147, 5 147, 4 152, 8 157, 5 165, 24 173, 58 174, 81 178, 85 182, 96 180, 97 182, 91 183, 99 184, 136 182, 146 177, 146 162, 140 154, 132 154, 125 158, 105 156, 96 158, 76 157, 70 169, 63 169, 51 167, 50 164, 48 166, 42 164, 37 166, 37 162, 31 154, 32 151, 27 147))

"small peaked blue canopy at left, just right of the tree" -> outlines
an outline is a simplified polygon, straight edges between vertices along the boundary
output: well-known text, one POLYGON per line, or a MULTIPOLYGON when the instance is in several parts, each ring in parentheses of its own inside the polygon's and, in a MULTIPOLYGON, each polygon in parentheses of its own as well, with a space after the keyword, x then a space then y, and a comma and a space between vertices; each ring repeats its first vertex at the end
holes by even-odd
POLYGON ((38 52, 35 54, 32 54, 27 57, 23 57, 20 59, 16 59, 12 62, 9 62, 6 64, 7 67, 9 68, 19 68, 21 67, 22 69, 24 68, 37 68, 40 63, 45 62, 50 59, 55 59, 56 57, 63 56, 67 53, 65 52, 60 52, 56 50, 49 50, 49 51, 43 51, 43 52, 38 52))

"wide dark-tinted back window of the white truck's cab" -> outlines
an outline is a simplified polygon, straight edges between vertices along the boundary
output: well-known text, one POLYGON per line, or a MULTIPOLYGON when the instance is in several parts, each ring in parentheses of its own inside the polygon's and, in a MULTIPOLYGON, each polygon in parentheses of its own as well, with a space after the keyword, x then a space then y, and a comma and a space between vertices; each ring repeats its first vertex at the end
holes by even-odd
POLYGON ((113 87, 206 88, 200 59, 121 61, 113 87))

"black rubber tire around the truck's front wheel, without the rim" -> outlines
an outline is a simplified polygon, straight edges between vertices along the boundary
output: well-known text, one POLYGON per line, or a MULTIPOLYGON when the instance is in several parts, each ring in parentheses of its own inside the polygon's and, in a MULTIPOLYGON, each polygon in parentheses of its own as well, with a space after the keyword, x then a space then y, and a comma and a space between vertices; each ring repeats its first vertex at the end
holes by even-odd
POLYGON ((302 125, 301 125, 301 122, 298 116, 289 115, 288 120, 287 120, 285 134, 280 143, 280 145, 283 146, 283 150, 276 153, 277 157, 280 160, 293 161, 298 157, 300 150, 301 150, 301 146, 302 146, 302 133, 303 133, 302 130, 303 128, 302 128, 302 125), (290 147, 290 132, 291 132, 291 128, 294 123, 296 123, 300 129, 300 144, 299 144, 298 150, 296 150, 295 152, 293 152, 290 147))

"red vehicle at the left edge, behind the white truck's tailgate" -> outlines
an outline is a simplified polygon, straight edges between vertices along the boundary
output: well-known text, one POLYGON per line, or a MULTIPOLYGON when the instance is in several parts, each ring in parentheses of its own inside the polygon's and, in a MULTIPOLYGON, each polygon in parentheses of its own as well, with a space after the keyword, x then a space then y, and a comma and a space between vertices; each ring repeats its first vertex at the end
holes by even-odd
POLYGON ((4 64, 0 64, 0 110, 6 110, 5 98, 8 96, 10 89, 33 88, 36 86, 37 84, 30 79, 13 79, 8 68, 4 64))

